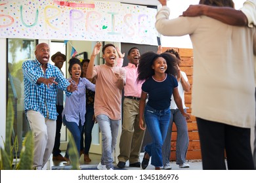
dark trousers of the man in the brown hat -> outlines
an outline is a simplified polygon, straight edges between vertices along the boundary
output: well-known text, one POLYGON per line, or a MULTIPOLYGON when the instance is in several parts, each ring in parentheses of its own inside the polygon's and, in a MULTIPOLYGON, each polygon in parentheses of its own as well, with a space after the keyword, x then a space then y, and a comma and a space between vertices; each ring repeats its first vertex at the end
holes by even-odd
POLYGON ((62 110, 63 105, 56 105, 56 110, 58 112, 57 120, 56 120, 56 135, 53 147, 53 156, 58 156, 60 154, 60 129, 62 127, 62 110))

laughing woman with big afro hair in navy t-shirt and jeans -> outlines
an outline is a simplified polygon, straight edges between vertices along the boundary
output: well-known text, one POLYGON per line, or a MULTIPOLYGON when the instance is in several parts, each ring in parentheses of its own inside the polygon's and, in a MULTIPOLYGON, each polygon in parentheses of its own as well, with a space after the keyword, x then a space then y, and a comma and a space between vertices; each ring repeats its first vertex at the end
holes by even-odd
POLYGON ((147 127, 152 137, 152 142, 144 148, 142 169, 146 169, 150 157, 152 157, 151 164, 156 170, 163 166, 161 148, 171 116, 171 95, 173 95, 182 115, 186 119, 190 118, 190 115, 186 114, 182 107, 176 78, 177 71, 177 59, 169 53, 146 52, 140 56, 137 80, 144 83, 139 104, 139 125, 144 130, 147 127), (148 102, 146 103, 147 98, 148 102), (142 120, 143 114, 146 127, 142 120))

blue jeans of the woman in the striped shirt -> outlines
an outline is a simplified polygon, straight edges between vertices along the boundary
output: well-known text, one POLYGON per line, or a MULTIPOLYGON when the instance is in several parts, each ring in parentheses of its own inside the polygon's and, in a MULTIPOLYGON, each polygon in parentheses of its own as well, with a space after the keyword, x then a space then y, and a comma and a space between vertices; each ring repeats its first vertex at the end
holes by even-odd
MULTIPOLYGON (((79 122, 79 126, 77 126, 77 124, 75 122, 68 122, 65 118, 65 115, 63 116, 63 124, 66 125, 66 127, 68 127, 68 130, 70 131, 70 133, 72 134, 74 141, 75 141, 75 145, 77 147, 77 153, 79 154, 80 152, 80 140, 81 140, 81 130, 82 130, 82 125, 81 125, 81 121, 79 122)), ((68 142, 68 147, 66 150, 66 154, 65 157, 68 158, 68 149, 70 148, 70 142, 68 142)))

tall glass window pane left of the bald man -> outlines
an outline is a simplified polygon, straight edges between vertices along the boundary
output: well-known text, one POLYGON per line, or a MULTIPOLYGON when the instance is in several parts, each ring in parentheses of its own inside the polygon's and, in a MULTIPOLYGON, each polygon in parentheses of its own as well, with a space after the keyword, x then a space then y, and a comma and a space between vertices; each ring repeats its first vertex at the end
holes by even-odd
MULTIPOLYGON (((24 111, 24 82, 22 63, 27 59, 35 59, 35 40, 8 39, 8 72, 7 100, 12 100, 14 110, 14 131, 12 140, 18 137, 18 155, 22 148, 22 140, 29 130, 24 111)), ((7 111, 9 112, 9 111, 7 111)))

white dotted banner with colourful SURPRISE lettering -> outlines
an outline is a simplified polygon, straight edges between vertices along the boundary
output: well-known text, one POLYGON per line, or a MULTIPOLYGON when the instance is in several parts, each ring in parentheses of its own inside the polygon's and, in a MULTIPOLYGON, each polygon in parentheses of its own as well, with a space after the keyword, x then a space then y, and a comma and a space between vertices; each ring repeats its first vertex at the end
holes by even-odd
POLYGON ((156 12, 109 1, 0 0, 0 37, 157 45, 156 12))

